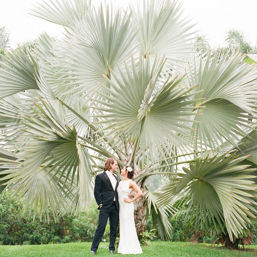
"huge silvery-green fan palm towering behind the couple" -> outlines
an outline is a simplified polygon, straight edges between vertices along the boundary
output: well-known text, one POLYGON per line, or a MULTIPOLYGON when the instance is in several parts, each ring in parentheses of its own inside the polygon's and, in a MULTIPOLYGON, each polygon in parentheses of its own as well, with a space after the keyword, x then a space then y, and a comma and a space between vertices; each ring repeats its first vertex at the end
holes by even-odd
MULTIPOLYGON (((256 115, 256 67, 243 63, 237 52, 202 57, 193 25, 180 19, 177 2, 144 1, 143 10, 138 6, 125 11, 95 8, 91 1, 51 3, 35 7, 32 14, 64 26, 63 40, 54 42, 42 34, 34 49, 11 50, 1 62, 0 125, 5 132, 0 189, 10 185, 12 195, 25 197, 25 208, 34 217, 39 210, 40 219, 44 214, 47 222, 51 212, 58 221, 90 199, 95 175, 113 157, 121 167, 133 165, 134 181, 143 191, 135 203, 138 233, 145 230, 150 214, 161 238, 170 239, 168 216, 176 212, 177 198, 168 188, 172 197, 162 199, 163 192, 151 192, 147 179, 161 175, 180 181, 175 168, 190 163, 194 154, 218 172, 222 153, 255 129, 255 119, 247 118, 248 113, 256 115), (208 153, 218 157, 208 161, 208 153)), ((202 171, 191 166, 190 172, 202 171)), ((236 176, 231 173, 228 183, 236 176)), ((213 183, 221 179, 217 173, 213 183)), ((240 177, 238 187, 255 196, 248 179, 240 177)), ((191 187, 176 183, 182 191, 191 187)), ((221 184, 213 190, 223 188, 221 184)), ((249 198, 241 194, 226 191, 216 198, 249 198)), ((202 212, 205 201, 212 199, 200 197, 192 204, 202 212)), ((241 204, 223 207, 208 205, 210 215, 219 212, 216 216, 231 237, 255 213, 241 204)))

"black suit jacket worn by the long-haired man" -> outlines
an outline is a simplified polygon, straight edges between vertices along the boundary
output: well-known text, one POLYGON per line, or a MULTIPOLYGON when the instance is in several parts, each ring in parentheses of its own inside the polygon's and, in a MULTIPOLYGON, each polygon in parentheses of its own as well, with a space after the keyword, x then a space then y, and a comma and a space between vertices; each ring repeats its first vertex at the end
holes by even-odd
MULTIPOLYGON (((119 178, 114 174, 113 176, 117 180, 115 190, 113 190, 111 180, 109 179, 105 171, 101 174, 96 175, 94 196, 96 199, 96 203, 98 205, 103 204, 101 208, 110 208, 112 206, 114 196, 115 196, 115 203, 116 203, 117 209, 119 210, 120 208, 119 208, 118 193, 117 193, 119 178)), ((98 206, 97 209, 100 209, 100 206, 98 206)))

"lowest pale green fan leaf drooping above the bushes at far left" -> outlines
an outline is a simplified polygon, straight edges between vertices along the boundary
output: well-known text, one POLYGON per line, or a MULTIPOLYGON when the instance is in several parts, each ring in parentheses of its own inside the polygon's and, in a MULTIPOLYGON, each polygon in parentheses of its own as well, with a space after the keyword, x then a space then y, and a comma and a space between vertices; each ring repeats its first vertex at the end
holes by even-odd
POLYGON ((47 220, 49 222, 50 209, 54 220, 58 222, 59 214, 63 215, 67 212, 67 207, 73 208, 76 204, 74 186, 62 184, 63 181, 57 181, 56 178, 51 180, 52 174, 49 174, 49 168, 43 166, 35 166, 29 171, 23 170, 21 168, 23 161, 18 158, 21 156, 0 148, 0 192, 10 185, 9 189, 14 189, 11 197, 16 194, 19 194, 18 200, 24 197, 24 209, 30 205, 33 220, 39 210, 40 221, 44 213, 45 222, 47 220))

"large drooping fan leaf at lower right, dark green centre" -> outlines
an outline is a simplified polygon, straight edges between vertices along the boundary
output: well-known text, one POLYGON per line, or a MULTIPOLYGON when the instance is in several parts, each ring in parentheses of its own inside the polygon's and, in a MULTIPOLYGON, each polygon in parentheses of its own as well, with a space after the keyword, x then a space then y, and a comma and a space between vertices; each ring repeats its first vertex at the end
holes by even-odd
POLYGON ((189 206, 186 216, 191 215, 196 225, 200 220, 203 229, 208 228, 208 223, 215 225, 216 221, 221 227, 225 224, 233 241, 233 235, 243 233, 242 229, 251 223, 250 218, 256 218, 257 186, 251 180, 255 178, 251 175, 255 169, 237 165, 248 155, 237 157, 232 154, 226 158, 225 155, 206 157, 203 163, 198 160, 196 166, 190 163, 190 170, 183 168, 185 174, 177 173, 178 177, 164 189, 157 206, 169 203, 170 199, 183 193, 182 208, 189 206))

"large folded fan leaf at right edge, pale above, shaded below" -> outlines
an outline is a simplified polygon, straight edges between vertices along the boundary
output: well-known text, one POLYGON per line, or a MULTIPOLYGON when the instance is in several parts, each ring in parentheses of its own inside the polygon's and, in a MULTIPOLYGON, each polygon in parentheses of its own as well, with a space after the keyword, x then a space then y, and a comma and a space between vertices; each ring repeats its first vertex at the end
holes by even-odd
POLYGON ((254 124, 247 118, 248 113, 256 114, 256 67, 242 62, 243 58, 240 53, 228 57, 228 52, 217 52, 210 61, 209 54, 191 73, 192 85, 199 84, 193 98, 201 99, 196 106, 202 106, 194 109, 201 114, 192 125, 196 129, 195 149, 216 151, 221 144, 226 149, 225 141, 236 145, 247 135, 245 128, 254 124))

